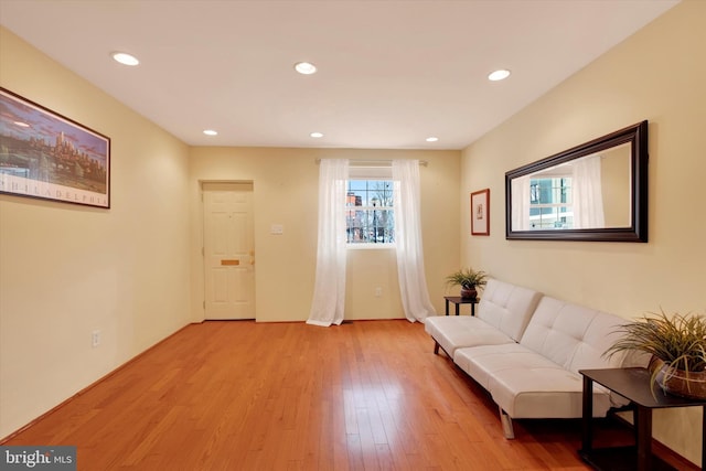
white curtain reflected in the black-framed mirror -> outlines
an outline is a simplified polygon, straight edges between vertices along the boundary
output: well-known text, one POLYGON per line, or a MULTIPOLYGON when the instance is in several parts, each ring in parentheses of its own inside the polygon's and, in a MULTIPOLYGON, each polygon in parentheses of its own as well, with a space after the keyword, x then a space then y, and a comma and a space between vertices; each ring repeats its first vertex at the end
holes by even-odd
POLYGON ((574 228, 605 227, 600 156, 575 160, 573 168, 574 228))

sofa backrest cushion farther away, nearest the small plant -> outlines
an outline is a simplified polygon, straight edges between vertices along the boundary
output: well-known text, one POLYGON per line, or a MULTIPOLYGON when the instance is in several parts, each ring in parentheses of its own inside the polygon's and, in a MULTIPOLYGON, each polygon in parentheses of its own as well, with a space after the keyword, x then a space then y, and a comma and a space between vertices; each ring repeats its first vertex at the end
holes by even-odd
POLYGON ((478 317, 514 341, 520 341, 542 293, 489 279, 478 304, 478 317))

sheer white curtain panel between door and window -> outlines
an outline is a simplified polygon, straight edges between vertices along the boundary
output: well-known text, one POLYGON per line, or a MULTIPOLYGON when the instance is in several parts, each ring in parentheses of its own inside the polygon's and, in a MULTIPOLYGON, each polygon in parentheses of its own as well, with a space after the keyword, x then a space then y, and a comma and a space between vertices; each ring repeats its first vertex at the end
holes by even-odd
POLYGON ((345 192, 349 161, 322 159, 319 168, 317 280, 308 324, 343 322, 345 304, 345 192))

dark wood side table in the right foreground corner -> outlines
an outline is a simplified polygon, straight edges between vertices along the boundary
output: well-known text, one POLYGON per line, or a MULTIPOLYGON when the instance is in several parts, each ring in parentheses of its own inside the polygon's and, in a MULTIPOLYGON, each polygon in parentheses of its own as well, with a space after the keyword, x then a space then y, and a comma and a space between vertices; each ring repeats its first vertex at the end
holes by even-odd
MULTIPOLYGON (((665 395, 655 386, 650 389, 650 372, 646 368, 580 370, 584 375, 582 448, 581 458, 598 470, 673 470, 670 464, 652 456, 652 409, 665 407, 700 406, 706 419, 706 402, 665 395), (635 446, 619 448, 593 448, 593 382, 618 393, 630 400, 634 427, 635 446)), ((702 429, 702 469, 706 469, 706 420, 702 429)))

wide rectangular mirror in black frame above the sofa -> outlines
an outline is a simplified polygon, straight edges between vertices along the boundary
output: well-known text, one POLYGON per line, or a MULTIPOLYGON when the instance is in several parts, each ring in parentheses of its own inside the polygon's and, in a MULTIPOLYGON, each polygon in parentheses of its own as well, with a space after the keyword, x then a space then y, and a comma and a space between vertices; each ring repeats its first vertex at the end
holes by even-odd
POLYGON ((505 238, 648 242, 648 121, 505 173, 505 238))

